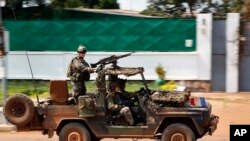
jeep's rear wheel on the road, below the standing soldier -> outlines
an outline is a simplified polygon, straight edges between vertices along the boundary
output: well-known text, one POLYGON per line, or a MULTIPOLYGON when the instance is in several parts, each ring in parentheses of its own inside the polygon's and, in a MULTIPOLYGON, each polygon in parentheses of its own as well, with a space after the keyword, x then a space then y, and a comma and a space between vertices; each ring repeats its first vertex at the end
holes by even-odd
POLYGON ((91 141, 89 131, 80 123, 69 123, 59 133, 59 141, 91 141))

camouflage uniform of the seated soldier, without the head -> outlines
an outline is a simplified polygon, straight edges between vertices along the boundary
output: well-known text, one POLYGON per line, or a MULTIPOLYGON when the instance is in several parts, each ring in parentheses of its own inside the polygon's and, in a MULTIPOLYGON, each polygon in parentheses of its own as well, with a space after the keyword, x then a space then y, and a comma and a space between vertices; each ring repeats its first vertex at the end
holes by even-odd
POLYGON ((107 95, 108 110, 113 114, 121 114, 125 117, 129 125, 134 125, 134 119, 129 107, 125 106, 119 94, 108 92, 107 95))

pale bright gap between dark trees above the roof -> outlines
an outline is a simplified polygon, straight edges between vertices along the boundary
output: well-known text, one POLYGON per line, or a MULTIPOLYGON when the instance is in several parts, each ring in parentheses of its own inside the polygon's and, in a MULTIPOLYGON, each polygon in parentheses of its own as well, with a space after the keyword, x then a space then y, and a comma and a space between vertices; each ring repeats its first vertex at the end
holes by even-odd
POLYGON ((147 0, 118 0, 120 9, 132 10, 132 11, 143 11, 147 8, 147 0))

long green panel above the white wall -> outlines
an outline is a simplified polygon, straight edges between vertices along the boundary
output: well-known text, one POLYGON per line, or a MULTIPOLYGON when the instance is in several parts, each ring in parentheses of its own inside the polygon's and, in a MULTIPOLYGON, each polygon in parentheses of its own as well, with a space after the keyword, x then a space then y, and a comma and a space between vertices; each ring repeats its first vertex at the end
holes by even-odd
POLYGON ((195 19, 5 20, 4 27, 11 51, 75 51, 81 43, 89 51, 196 50, 195 19))

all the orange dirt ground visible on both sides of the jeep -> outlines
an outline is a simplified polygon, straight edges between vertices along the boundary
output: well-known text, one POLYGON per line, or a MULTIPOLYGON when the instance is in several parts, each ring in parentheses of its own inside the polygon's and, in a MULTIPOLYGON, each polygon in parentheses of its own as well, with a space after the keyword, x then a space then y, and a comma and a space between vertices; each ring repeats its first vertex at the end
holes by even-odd
MULTIPOLYGON (((246 98, 208 98, 213 105, 213 113, 220 117, 218 129, 213 136, 204 136, 198 141, 229 141, 229 125, 230 124, 249 124, 250 125, 250 94, 246 98)), ((1 141, 58 141, 55 136, 48 139, 40 132, 0 132, 1 141)), ((112 141, 115 139, 103 139, 103 141, 112 141)), ((153 141, 143 139, 144 141, 153 141)), ((121 141, 131 141, 131 139, 121 139, 121 141)))

